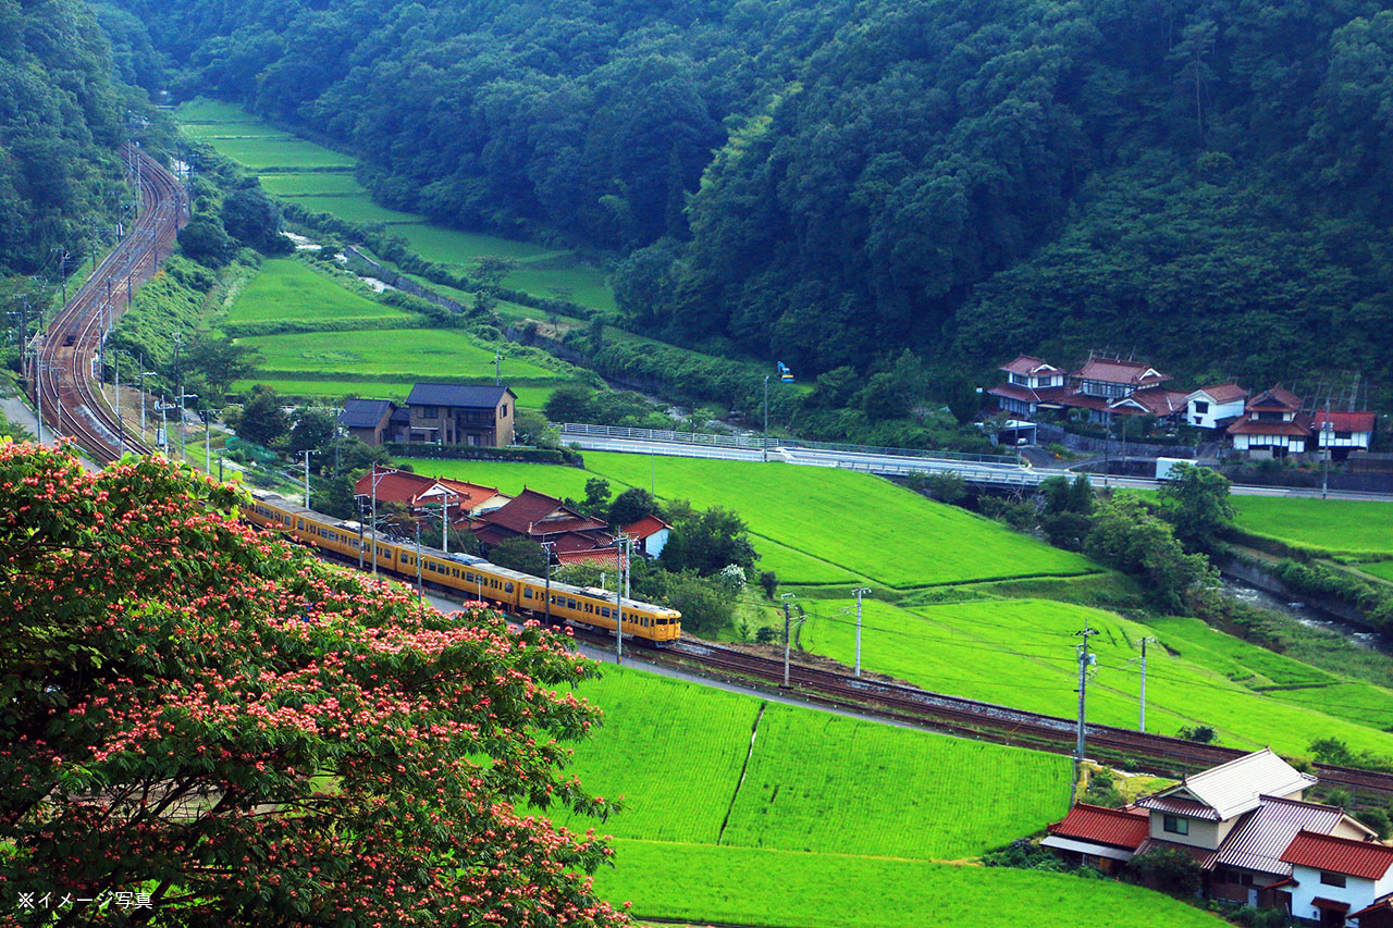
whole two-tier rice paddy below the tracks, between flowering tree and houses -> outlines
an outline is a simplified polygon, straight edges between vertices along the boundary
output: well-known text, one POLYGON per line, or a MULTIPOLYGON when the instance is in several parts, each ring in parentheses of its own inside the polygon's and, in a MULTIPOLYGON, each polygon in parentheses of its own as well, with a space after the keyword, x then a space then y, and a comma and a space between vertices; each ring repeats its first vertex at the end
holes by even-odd
POLYGON ((1028 906, 1032 924, 1222 924, 1120 883, 932 863, 975 857, 1061 815, 1066 758, 634 670, 606 667, 578 693, 603 706, 605 725, 577 745, 573 769, 588 790, 621 791, 627 805, 602 826, 617 836, 617 856, 598 888, 616 903, 635 900, 641 918, 1014 925, 1028 906), (1010 903, 1015 896, 1021 902, 1010 903), (983 904, 988 897, 1002 903, 983 904), (1085 900, 1087 915, 1074 914, 1085 900), (997 922, 992 911, 1014 914, 997 922))

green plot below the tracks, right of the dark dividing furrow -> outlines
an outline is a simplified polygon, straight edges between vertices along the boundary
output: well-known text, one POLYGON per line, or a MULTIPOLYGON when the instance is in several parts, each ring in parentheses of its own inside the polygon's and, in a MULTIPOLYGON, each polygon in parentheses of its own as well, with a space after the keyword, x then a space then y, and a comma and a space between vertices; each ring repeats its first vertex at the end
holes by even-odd
POLYGON ((968 857, 1064 817, 1061 759, 769 705, 722 843, 968 857))

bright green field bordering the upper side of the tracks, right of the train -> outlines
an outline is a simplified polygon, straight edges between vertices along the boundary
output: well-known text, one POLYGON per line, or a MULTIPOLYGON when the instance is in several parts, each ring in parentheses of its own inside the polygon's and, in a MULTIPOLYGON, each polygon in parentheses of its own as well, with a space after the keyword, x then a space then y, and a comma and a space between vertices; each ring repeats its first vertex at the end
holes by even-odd
MULTIPOLYGON (((851 663, 855 623, 846 613, 853 603, 808 605, 814 617, 802 630, 804 647, 851 663)), ((1318 688, 1254 688, 1276 684, 1237 663, 1234 655, 1243 645, 1237 640, 1222 645, 1227 654, 1217 666, 1208 666, 1205 660, 1213 652, 1206 655, 1188 638, 1172 647, 1163 627, 1052 601, 971 601, 908 609, 868 601, 862 666, 940 693, 1070 716, 1077 699, 1075 633, 1085 621, 1100 633, 1089 642, 1098 655, 1088 688, 1092 722, 1137 726, 1135 659, 1141 655, 1141 638, 1149 634, 1162 644, 1148 651, 1149 732, 1176 734, 1183 726, 1206 725, 1217 730, 1224 744, 1244 748, 1270 744, 1290 754, 1304 754, 1314 738, 1339 737, 1360 744, 1360 750, 1393 755, 1393 734, 1369 725, 1368 715, 1361 715, 1362 706, 1347 705, 1343 686, 1328 698, 1316 695, 1322 693, 1318 688), (1187 658, 1187 648, 1194 649, 1194 659, 1187 658), (1172 649, 1178 654, 1170 654, 1172 649)), ((1256 651, 1255 645, 1248 647, 1256 651)), ((1262 658, 1251 656, 1255 666, 1262 666, 1262 658)), ((1280 673, 1290 674, 1287 679, 1297 674, 1287 667, 1280 673)), ((1312 669, 1307 679, 1319 680, 1322 673, 1312 669)))

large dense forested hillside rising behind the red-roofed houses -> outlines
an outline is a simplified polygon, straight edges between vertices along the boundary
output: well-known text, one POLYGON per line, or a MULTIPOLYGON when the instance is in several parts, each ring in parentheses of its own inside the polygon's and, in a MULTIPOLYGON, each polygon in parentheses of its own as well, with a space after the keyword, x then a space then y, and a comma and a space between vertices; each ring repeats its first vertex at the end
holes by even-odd
POLYGON ((1393 4, 120 0, 380 201, 614 249, 635 326, 808 371, 1393 362, 1393 4))

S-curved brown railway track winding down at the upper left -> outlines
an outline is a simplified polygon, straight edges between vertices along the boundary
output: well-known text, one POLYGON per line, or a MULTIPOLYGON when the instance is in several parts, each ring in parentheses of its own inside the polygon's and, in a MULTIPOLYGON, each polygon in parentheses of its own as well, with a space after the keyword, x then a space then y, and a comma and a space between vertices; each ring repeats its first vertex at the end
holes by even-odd
POLYGON ((187 198, 174 176, 143 150, 135 149, 134 155, 139 163, 139 217, 38 336, 36 357, 29 362, 32 399, 42 405, 45 425, 74 439, 100 464, 114 461, 125 450, 150 451, 141 436, 117 421, 92 382, 92 366, 107 326, 127 308, 127 295, 155 274, 187 220, 187 198))

